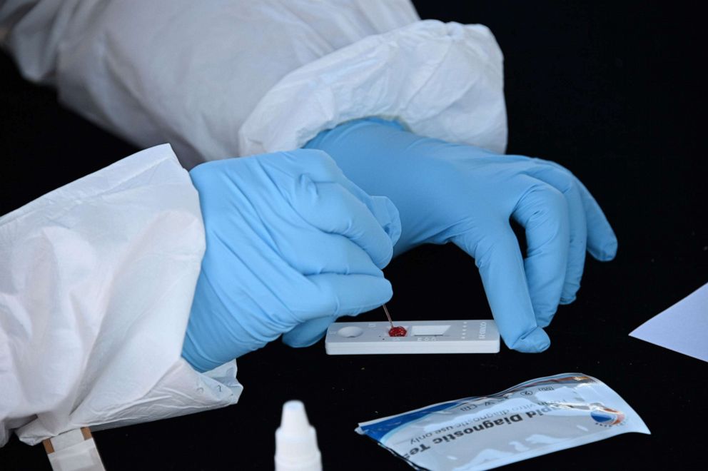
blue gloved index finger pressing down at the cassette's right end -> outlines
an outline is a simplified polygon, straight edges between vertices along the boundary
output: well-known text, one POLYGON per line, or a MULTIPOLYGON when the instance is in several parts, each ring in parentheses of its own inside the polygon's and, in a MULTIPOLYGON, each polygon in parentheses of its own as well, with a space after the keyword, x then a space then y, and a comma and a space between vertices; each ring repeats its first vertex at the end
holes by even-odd
POLYGON ((452 239, 480 270, 492 315, 507 347, 526 353, 546 350, 550 339, 538 327, 519 243, 507 221, 473 228, 452 239))

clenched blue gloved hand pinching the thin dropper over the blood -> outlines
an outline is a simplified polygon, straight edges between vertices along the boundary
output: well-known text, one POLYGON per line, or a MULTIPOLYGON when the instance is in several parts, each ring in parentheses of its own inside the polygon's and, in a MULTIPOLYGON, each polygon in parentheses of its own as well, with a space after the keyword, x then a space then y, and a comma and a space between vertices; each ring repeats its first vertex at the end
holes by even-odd
POLYGON ((213 161, 190 172, 206 253, 182 356, 199 371, 278 335, 314 343, 339 315, 391 298, 383 268, 400 235, 395 206, 348 181, 322 151, 213 161))

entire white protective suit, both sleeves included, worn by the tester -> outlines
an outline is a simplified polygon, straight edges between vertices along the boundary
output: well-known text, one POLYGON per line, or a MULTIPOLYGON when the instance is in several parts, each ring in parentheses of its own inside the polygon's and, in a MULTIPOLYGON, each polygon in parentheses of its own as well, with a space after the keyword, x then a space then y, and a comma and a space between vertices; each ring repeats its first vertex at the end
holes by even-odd
POLYGON ((6 0, 0 40, 66 106, 179 158, 149 148, 0 218, 0 445, 238 400, 235 363, 180 356, 204 250, 182 166, 364 116, 505 148, 492 34, 408 0, 6 0))

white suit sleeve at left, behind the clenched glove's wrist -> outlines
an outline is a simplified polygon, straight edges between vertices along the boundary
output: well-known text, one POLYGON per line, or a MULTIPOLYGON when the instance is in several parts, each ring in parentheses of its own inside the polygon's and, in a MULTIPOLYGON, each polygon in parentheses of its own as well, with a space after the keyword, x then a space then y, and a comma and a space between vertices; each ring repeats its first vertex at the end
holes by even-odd
POLYGON ((181 358, 204 251, 196 190, 150 148, 0 218, 0 446, 233 404, 236 363, 181 358))

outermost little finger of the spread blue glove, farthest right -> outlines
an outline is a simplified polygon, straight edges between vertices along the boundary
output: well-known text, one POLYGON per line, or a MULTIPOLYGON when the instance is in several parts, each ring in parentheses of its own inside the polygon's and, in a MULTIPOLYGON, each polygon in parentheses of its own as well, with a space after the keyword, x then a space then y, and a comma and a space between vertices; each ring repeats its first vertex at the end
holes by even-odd
MULTIPOLYGON (((535 160, 547 163, 572 175, 567 168, 559 163, 544 161, 542 159, 535 160)), ((610 261, 615 258, 615 255, 617 255, 617 236, 615 236, 615 231, 612 231, 610 222, 607 221, 605 213, 602 212, 602 208, 600 208, 600 205, 597 204, 597 201, 593 198, 592 193, 588 191, 580 179, 575 176, 573 176, 573 178, 575 179, 575 184, 577 185, 578 192, 580 193, 582 206, 585 208, 587 251, 590 252, 590 255, 597 260, 603 262, 610 261)))

